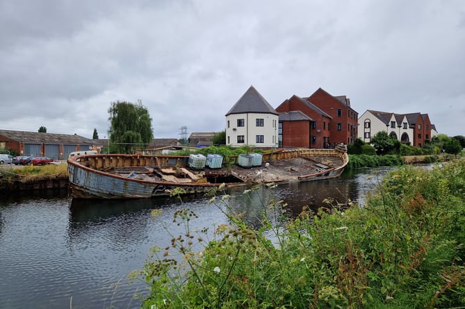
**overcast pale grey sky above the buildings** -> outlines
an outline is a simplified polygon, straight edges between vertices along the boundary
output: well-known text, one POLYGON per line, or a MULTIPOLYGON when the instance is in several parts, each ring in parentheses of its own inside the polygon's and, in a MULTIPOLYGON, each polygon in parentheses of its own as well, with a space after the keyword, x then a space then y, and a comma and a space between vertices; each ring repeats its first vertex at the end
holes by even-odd
POLYGON ((156 138, 219 132, 251 85, 465 135, 465 1, 0 0, 0 129, 106 138, 140 101, 156 138))

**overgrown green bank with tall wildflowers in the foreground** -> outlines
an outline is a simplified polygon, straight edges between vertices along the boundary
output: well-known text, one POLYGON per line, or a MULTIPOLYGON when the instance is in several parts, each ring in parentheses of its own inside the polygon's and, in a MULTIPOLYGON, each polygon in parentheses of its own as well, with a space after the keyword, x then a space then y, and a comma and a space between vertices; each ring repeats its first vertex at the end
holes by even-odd
POLYGON ((209 241, 189 230, 194 212, 177 212, 186 233, 138 273, 142 308, 463 308, 465 160, 401 167, 378 189, 364 207, 327 201, 294 219, 265 201, 259 230, 215 195, 229 224, 209 241))

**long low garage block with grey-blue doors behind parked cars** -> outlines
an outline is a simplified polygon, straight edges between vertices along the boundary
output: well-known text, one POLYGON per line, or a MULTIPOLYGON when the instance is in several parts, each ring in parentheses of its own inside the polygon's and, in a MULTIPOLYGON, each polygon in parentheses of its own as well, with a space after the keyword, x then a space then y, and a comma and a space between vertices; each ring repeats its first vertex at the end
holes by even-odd
POLYGON ((73 151, 91 150, 93 144, 93 140, 79 135, 0 130, 0 149, 11 149, 19 156, 61 160, 73 151))

